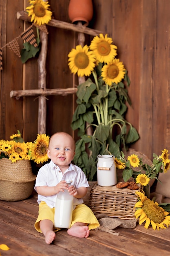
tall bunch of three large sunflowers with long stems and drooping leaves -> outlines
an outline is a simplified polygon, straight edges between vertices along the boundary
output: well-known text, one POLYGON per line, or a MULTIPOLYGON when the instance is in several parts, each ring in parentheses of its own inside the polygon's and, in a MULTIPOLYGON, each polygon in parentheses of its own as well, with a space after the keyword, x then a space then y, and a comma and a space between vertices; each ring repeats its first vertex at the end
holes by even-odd
POLYGON ((88 180, 96 173, 97 155, 119 156, 122 148, 139 139, 124 118, 126 102, 131 105, 127 90, 130 80, 116 55, 117 46, 107 34, 95 36, 90 46, 77 45, 68 54, 71 72, 88 77, 77 87, 77 108, 71 123, 80 137, 74 162, 88 180))

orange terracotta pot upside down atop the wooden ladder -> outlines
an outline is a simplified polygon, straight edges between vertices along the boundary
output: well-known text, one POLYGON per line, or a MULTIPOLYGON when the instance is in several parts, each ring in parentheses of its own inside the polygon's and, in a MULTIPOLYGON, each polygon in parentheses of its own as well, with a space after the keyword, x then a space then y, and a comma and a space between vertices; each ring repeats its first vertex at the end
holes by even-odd
POLYGON ((68 16, 72 23, 82 21, 87 26, 93 17, 92 0, 70 0, 68 16))

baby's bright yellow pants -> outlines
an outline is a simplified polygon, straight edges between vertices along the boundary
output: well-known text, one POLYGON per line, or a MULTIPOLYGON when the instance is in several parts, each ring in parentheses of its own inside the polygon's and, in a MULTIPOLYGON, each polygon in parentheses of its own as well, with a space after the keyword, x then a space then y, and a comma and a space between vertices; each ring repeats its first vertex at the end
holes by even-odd
MULTIPOLYGON (((41 202, 39 204, 38 218, 35 222, 35 229, 38 232, 42 233, 40 229, 41 220, 51 220, 54 224, 54 212, 55 208, 50 208, 46 202, 41 202)), ((97 218, 95 217, 93 211, 86 206, 86 204, 79 204, 73 210, 71 226, 73 226, 75 222, 87 223, 89 229, 96 229, 99 227, 97 218)), ((60 229, 54 227, 53 230, 58 231, 60 229)))

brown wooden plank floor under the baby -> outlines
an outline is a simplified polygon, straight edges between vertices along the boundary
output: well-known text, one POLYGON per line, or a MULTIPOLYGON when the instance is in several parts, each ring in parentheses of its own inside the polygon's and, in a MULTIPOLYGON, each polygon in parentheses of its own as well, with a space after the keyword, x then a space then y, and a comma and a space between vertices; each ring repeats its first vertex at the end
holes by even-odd
MULTIPOLYGON (((87 199, 88 201, 88 199, 87 199)), ((117 228, 119 236, 105 231, 90 231, 88 238, 69 236, 65 229, 56 233, 51 245, 34 229, 38 216, 37 195, 18 202, 0 201, 1 256, 169 256, 170 228, 154 231, 137 225, 135 229, 117 228)))

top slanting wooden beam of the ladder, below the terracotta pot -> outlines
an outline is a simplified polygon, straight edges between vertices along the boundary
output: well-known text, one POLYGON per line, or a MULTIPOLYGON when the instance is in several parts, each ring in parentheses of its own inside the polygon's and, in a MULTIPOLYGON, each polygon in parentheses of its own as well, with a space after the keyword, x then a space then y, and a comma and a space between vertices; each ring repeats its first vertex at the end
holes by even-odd
MULTIPOLYGON (((17 12, 17 18, 20 19, 20 20, 26 20, 26 21, 31 22, 31 17, 28 16, 26 11, 18 11, 17 12)), ((61 20, 52 19, 52 20, 50 20, 50 22, 47 25, 52 26, 52 27, 58 27, 58 28, 61 28, 61 29, 69 29, 69 30, 73 30, 73 31, 76 31, 76 32, 81 32, 81 33, 84 33, 84 34, 88 34, 88 35, 91 35, 91 36, 97 36, 101 33, 103 34, 102 31, 99 31, 99 30, 96 30, 96 29, 91 29, 91 28, 85 27, 84 25, 78 26, 78 25, 71 24, 71 23, 68 23, 68 22, 65 22, 65 21, 61 21, 61 20)))

